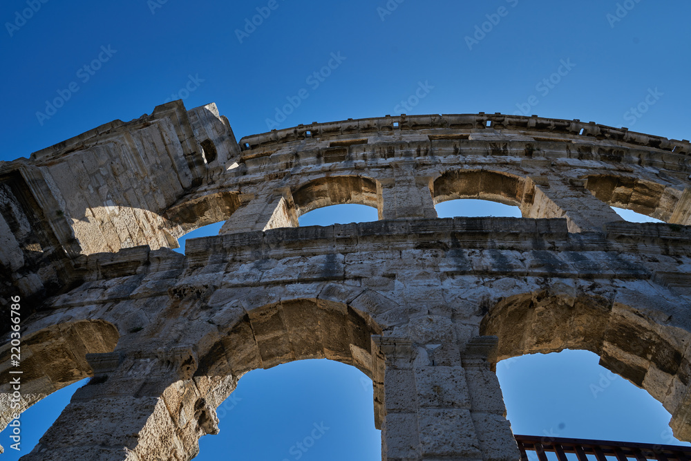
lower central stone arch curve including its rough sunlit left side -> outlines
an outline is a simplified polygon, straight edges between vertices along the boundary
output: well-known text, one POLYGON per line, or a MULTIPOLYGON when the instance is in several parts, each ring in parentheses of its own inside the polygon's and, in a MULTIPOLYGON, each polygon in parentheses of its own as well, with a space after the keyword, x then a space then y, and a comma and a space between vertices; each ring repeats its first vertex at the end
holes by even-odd
MULTIPOLYGON (((381 335, 382 330, 369 314, 347 302, 317 298, 287 299, 247 310, 226 309, 240 312, 227 312, 227 318, 234 320, 219 326, 218 335, 200 341, 206 345, 206 352, 199 356, 193 381, 196 389, 205 395, 188 400, 171 399, 168 403, 168 406, 173 403, 179 406, 172 408, 173 415, 193 415, 177 421, 181 429, 187 425, 206 425, 203 431, 193 431, 198 438, 216 433, 215 408, 234 391, 240 377, 256 368, 272 368, 303 359, 339 361, 355 366, 372 378, 375 420, 379 421, 383 383, 375 369, 380 364, 376 362, 372 335, 381 335)), ((165 394, 164 399, 167 399, 165 394)))

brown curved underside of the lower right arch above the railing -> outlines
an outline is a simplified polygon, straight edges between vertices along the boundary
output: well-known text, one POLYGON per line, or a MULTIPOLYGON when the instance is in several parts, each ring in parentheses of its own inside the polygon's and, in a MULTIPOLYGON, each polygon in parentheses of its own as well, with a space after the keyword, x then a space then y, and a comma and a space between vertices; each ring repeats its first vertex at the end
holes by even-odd
POLYGON ((495 364, 518 355, 567 348, 596 353, 601 366, 661 402, 672 413, 670 426, 676 438, 690 440, 686 394, 691 381, 691 332, 662 321, 672 317, 647 304, 632 307, 597 294, 516 294, 489 310, 480 333, 499 339, 495 364))

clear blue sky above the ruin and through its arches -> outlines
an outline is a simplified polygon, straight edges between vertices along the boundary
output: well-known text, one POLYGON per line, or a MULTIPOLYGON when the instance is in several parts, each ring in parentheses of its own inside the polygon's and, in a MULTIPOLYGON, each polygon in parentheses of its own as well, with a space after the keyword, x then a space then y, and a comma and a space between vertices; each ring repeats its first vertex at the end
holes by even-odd
MULTIPOLYGON (((30 8, 26 0, 0 5, 0 160, 151 113, 171 97, 184 98, 188 108, 216 102, 238 140, 269 126, 480 111, 689 138, 687 0, 621 1, 619 10, 616 1, 602 0, 406 0, 392 11, 386 0, 276 0, 261 25, 239 38, 236 30, 256 8, 266 15, 269 0, 29 2, 37 11, 26 12, 26 21, 17 19, 30 8), (477 32, 483 27, 487 32, 477 32), (339 58, 331 75, 310 77, 332 53, 339 58), (90 63, 99 58, 95 70, 90 63), (416 101, 418 88, 424 97, 416 101), (308 97, 298 105, 299 94, 308 97), (66 101, 46 113, 46 101, 55 98, 66 101), (276 108, 285 113, 290 101, 283 120, 276 108)), ((343 218, 331 210, 316 223, 333 222, 334 214, 343 218)), ((605 392, 591 394, 600 373, 607 377, 596 363, 587 352, 562 352, 500 364, 514 431, 670 442, 670 416, 644 391, 614 378, 605 392), (526 406, 537 401, 555 403, 526 406)), ((221 434, 202 438, 198 459, 294 460, 292 446, 323 422, 330 429, 302 460, 378 460, 372 391, 362 379, 354 368, 323 361, 249 373, 236 402, 224 407, 221 434)), ((73 391, 26 413, 35 440, 73 391)), ((28 450, 30 438, 24 442, 28 450)), ((17 459, 6 433, 0 444, 6 447, 0 459, 17 459)))

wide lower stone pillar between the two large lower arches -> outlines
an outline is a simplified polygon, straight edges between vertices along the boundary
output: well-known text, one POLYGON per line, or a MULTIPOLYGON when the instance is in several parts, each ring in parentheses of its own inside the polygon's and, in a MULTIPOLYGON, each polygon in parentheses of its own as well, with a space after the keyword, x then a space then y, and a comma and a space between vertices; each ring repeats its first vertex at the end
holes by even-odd
POLYGON ((453 342, 375 337, 386 361, 382 460, 520 458, 483 341, 462 361, 453 342))

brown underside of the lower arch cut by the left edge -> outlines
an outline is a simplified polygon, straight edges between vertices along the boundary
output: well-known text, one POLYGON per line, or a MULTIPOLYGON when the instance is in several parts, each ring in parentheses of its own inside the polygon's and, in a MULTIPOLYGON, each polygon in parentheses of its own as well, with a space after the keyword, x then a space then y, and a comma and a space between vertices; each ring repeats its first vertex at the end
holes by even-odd
POLYGON ((48 395, 86 377, 93 370, 87 354, 112 352, 120 339, 117 328, 103 320, 68 321, 24 334, 21 339, 21 402, 12 409, 10 397, 14 375, 8 341, 0 348, 0 431, 21 413, 48 395))

